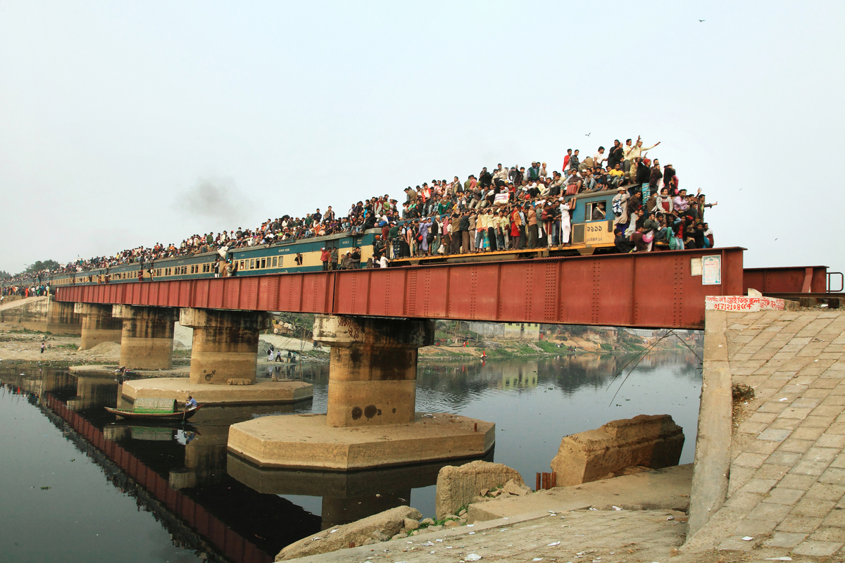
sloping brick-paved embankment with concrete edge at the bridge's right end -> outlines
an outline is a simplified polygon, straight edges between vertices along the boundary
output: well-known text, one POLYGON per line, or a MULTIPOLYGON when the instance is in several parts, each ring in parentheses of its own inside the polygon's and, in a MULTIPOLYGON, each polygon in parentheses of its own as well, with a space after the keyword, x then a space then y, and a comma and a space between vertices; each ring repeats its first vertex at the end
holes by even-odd
POLYGON ((842 560, 845 312, 708 312, 707 324, 724 338, 711 341, 717 349, 706 341, 706 371, 718 373, 705 376, 716 389, 702 397, 695 533, 684 551, 716 549, 722 560, 842 560), (731 405, 726 429, 731 384, 751 387, 755 397, 731 405), (707 413, 711 407, 716 412, 707 413), (709 427, 706 416, 715 420, 709 427))

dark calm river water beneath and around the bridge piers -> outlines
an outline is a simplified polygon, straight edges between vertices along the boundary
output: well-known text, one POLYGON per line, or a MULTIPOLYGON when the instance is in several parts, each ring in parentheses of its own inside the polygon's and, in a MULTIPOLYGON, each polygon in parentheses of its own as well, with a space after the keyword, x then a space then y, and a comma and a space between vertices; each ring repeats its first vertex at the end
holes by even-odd
MULTIPOLYGON (((700 355, 700 353, 699 353, 700 355)), ((534 484, 563 436, 636 414, 671 414, 695 451, 701 371, 689 351, 631 360, 577 355, 482 364, 426 363, 417 411, 496 423, 488 460, 534 484), (615 398, 614 398, 615 394, 615 398)), ((259 375, 266 375, 259 361, 259 375)), ((294 375, 294 374, 290 374, 294 375)), ((0 364, 0 560, 272 561, 320 529, 410 504, 433 516, 443 465, 361 474, 273 471, 226 452, 229 425, 256 416, 325 412, 328 365, 297 378, 313 400, 284 407, 210 407, 187 426, 116 422, 118 383, 31 364, 0 364)))

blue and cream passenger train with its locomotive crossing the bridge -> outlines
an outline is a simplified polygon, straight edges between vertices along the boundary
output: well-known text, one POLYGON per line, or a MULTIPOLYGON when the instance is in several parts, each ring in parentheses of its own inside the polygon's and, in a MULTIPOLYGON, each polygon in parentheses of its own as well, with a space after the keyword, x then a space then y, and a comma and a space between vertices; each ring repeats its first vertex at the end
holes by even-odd
MULTIPOLYGON (((399 268, 419 264, 455 263, 472 261, 499 261, 513 259, 532 259, 549 256, 591 255, 594 253, 616 252, 613 233, 613 213, 611 212, 616 190, 581 193, 567 198, 576 200, 571 215, 570 246, 552 246, 483 252, 477 254, 434 255, 431 257, 403 257, 390 263, 390 267, 399 268), (593 219, 594 210, 604 219, 593 219)), ((236 248, 228 252, 226 258, 237 263, 237 276, 265 275, 274 273, 316 272, 323 269, 320 261, 322 248, 337 249, 338 254, 361 248, 361 262, 366 263, 373 256, 373 243, 381 229, 370 229, 363 233, 342 233, 325 235, 311 239, 275 242, 271 245, 236 248), (297 254, 303 257, 303 263, 297 264, 297 254)), ((215 262, 221 257, 218 252, 203 252, 190 256, 168 257, 144 263, 144 281, 167 281, 180 279, 213 278, 215 262)), ((51 288, 84 284, 131 284, 139 282, 140 263, 128 263, 109 268, 93 268, 77 273, 54 273, 49 279, 29 279, 19 282, 4 282, 4 285, 48 284, 51 288)), ((224 275, 221 272, 221 275, 224 275)))

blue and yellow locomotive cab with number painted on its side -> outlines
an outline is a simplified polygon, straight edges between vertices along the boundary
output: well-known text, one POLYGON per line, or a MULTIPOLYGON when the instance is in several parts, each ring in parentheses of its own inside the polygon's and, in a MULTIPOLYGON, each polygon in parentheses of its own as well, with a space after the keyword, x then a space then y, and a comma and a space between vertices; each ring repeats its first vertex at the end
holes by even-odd
POLYGON ((615 251, 612 203, 616 193, 615 190, 604 190, 574 197, 571 248, 581 256, 615 251))

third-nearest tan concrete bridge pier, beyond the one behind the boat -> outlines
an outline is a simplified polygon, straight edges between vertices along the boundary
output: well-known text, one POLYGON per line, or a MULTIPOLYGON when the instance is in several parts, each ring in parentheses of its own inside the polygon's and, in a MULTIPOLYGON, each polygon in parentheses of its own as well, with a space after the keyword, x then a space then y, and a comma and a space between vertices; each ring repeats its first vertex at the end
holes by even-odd
POLYGON ((112 306, 112 317, 123 319, 120 365, 128 370, 169 370, 176 312, 170 307, 112 306))

